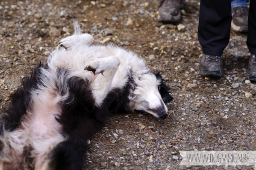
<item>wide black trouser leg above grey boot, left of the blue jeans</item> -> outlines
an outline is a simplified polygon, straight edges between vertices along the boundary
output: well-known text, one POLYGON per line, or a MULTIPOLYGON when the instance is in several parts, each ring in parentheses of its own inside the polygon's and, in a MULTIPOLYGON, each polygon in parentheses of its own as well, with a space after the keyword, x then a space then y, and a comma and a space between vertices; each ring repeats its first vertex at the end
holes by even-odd
POLYGON ((223 54, 230 41, 231 20, 231 0, 200 1, 198 40, 204 54, 223 54))

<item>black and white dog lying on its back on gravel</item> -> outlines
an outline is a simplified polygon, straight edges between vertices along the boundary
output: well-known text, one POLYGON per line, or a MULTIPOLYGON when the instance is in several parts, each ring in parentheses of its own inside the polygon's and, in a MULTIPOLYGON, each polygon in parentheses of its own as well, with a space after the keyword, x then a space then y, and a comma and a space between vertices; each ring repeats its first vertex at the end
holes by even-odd
POLYGON ((0 170, 81 170, 87 140, 112 113, 165 119, 173 98, 159 73, 114 45, 81 34, 60 41, 12 95, 0 128, 0 170))

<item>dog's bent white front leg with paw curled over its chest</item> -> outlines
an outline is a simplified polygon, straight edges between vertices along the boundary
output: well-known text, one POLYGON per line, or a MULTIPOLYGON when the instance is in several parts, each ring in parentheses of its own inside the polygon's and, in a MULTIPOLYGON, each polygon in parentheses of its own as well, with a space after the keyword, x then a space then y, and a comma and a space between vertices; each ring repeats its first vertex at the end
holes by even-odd
POLYGON ((88 63, 85 70, 98 74, 91 83, 92 92, 96 104, 99 106, 109 91, 111 91, 112 79, 120 65, 120 60, 116 56, 97 58, 88 63), (101 74, 100 74, 101 73, 101 74))

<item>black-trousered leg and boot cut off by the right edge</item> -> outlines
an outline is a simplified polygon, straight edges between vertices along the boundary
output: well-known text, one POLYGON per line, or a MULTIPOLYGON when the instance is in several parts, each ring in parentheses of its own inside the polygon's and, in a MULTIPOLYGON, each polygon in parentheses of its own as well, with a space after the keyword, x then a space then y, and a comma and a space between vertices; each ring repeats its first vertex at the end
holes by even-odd
POLYGON ((250 1, 248 17, 247 46, 251 53, 247 68, 247 78, 256 81, 256 1, 250 1))

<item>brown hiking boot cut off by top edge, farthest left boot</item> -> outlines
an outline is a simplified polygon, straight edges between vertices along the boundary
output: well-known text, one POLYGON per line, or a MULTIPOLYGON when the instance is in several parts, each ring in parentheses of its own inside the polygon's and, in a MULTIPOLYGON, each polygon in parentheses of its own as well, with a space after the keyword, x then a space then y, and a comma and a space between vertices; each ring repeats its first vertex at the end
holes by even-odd
POLYGON ((186 6, 185 0, 162 0, 157 19, 162 22, 177 22, 181 19, 180 9, 186 6))

